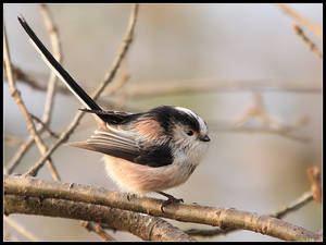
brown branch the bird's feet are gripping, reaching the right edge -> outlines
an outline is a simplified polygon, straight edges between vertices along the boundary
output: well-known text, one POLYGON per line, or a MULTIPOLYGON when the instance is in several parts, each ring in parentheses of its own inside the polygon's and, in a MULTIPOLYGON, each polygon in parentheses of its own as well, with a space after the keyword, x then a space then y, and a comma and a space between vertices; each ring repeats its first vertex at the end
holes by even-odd
POLYGON ((259 216, 236 209, 184 204, 167 206, 162 212, 162 200, 159 199, 147 197, 128 199, 126 195, 118 192, 79 184, 72 186, 71 184, 48 182, 35 177, 4 176, 4 194, 82 201, 184 222, 244 229, 287 241, 319 241, 322 238, 315 232, 268 216, 259 216))

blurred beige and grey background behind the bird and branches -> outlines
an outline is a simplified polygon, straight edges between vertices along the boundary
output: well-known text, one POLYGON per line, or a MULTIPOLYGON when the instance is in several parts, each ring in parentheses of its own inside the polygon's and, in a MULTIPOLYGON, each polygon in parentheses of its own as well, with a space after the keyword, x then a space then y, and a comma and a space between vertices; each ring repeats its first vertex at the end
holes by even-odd
MULTIPOLYGON (((322 4, 287 4, 306 20, 323 27, 322 4)), ((16 16, 22 14, 40 39, 50 47, 48 32, 37 4, 4 4, 4 24, 12 62, 39 84, 46 85, 49 69, 27 41, 16 16)), ((103 79, 120 47, 129 20, 130 4, 49 4, 59 29, 63 65, 88 93, 103 79)), ((210 83, 251 83, 261 81, 322 88, 322 60, 292 28, 294 21, 274 4, 140 4, 127 59, 121 70, 130 78, 121 88, 150 84, 185 87, 210 83)), ((317 47, 322 40, 299 24, 317 47)), ((117 78, 122 72, 117 74, 117 78)), ((59 82, 61 83, 61 82, 59 82)), ((61 84, 60 84, 61 85, 61 84)), ((17 83, 32 113, 41 118, 46 93, 17 83)), ((170 194, 185 203, 236 208, 260 215, 276 211, 311 188, 305 170, 322 168, 322 91, 293 93, 285 89, 260 90, 265 112, 280 123, 306 121, 294 133, 309 137, 302 142, 268 133, 218 130, 216 122, 230 125, 252 105, 248 89, 212 89, 210 93, 178 93, 141 97, 111 96, 101 100, 105 108, 120 99, 129 111, 146 111, 161 105, 187 107, 209 124, 211 146, 206 157, 184 185, 170 194), (105 105, 108 102, 108 105, 105 105)), ((24 140, 26 122, 3 83, 4 136, 24 140)), ((50 127, 62 132, 82 106, 70 95, 57 94, 50 127)), ((253 127, 260 125, 254 122, 253 127)), ((83 140, 96 128, 90 115, 70 140, 83 140)), ((54 139, 47 139, 50 146, 54 139)), ((4 142, 4 164, 18 145, 4 142)), ((15 170, 25 172, 40 155, 34 146, 15 170)), ((101 155, 61 146, 52 160, 63 182, 117 189, 103 171, 101 155)), ((51 180, 47 168, 39 177, 51 180)), ((155 195, 153 195, 155 196, 155 195)), ((159 197, 159 196, 155 196, 159 197)), ((160 197, 161 198, 161 197, 160 197)), ((13 220, 43 241, 100 241, 76 220, 12 215, 13 220)), ((312 231, 322 229, 322 205, 311 201, 284 218, 312 231)), ((170 220, 168 220, 170 221, 170 220)), ((181 229, 209 226, 171 221, 181 229)), ((8 232, 21 240, 13 229, 8 232)), ((140 241, 126 232, 113 233, 120 241, 140 241)), ((209 241, 278 241, 249 231, 237 231, 209 241)))

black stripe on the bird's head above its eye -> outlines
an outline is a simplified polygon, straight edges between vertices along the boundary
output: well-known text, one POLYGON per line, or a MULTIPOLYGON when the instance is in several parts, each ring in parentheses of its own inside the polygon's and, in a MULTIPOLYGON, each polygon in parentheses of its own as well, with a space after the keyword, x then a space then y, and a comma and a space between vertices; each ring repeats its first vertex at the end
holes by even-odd
POLYGON ((174 107, 156 107, 149 111, 148 115, 154 117, 168 135, 172 134, 172 124, 176 122, 187 125, 196 132, 200 132, 199 122, 193 115, 186 113, 183 110, 177 110, 174 107))

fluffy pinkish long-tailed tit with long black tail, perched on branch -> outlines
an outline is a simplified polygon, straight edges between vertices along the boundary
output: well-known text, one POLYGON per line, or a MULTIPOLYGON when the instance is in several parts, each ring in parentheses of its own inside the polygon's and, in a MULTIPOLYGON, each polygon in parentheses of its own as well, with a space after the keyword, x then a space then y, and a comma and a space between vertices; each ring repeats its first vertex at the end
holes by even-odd
POLYGON ((26 21, 18 21, 45 62, 87 108, 98 115, 98 130, 86 142, 71 146, 104 154, 108 174, 128 193, 156 192, 168 199, 161 207, 177 203, 162 191, 185 183, 205 154, 210 138, 205 122, 193 111, 162 106, 142 113, 103 111, 60 65, 26 21))

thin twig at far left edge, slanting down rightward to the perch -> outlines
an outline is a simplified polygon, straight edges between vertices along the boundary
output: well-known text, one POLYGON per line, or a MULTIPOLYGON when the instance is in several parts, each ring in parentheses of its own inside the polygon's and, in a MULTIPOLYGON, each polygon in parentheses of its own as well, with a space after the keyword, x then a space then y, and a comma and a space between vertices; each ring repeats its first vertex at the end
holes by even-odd
MULTIPOLYGON (((3 25, 3 53, 4 53, 4 64, 5 64, 5 70, 7 70, 7 76, 8 76, 8 84, 10 86, 11 95, 15 102, 17 103, 20 110, 22 111, 23 117, 26 120, 27 123, 27 128, 29 133, 33 135, 35 143, 40 150, 42 155, 46 154, 47 147, 42 143, 42 139, 38 135, 35 125, 30 119, 29 112, 27 108, 25 107, 25 103, 21 97, 20 90, 16 88, 15 81, 13 79, 12 75, 12 69, 11 69, 11 59, 10 59, 10 53, 9 53, 9 47, 8 47, 8 39, 7 39, 7 34, 5 34, 5 26, 3 25)), ((50 172, 53 177, 57 180, 60 180, 58 172, 55 170, 55 167, 52 164, 50 159, 47 159, 47 164, 49 166, 50 172)))

